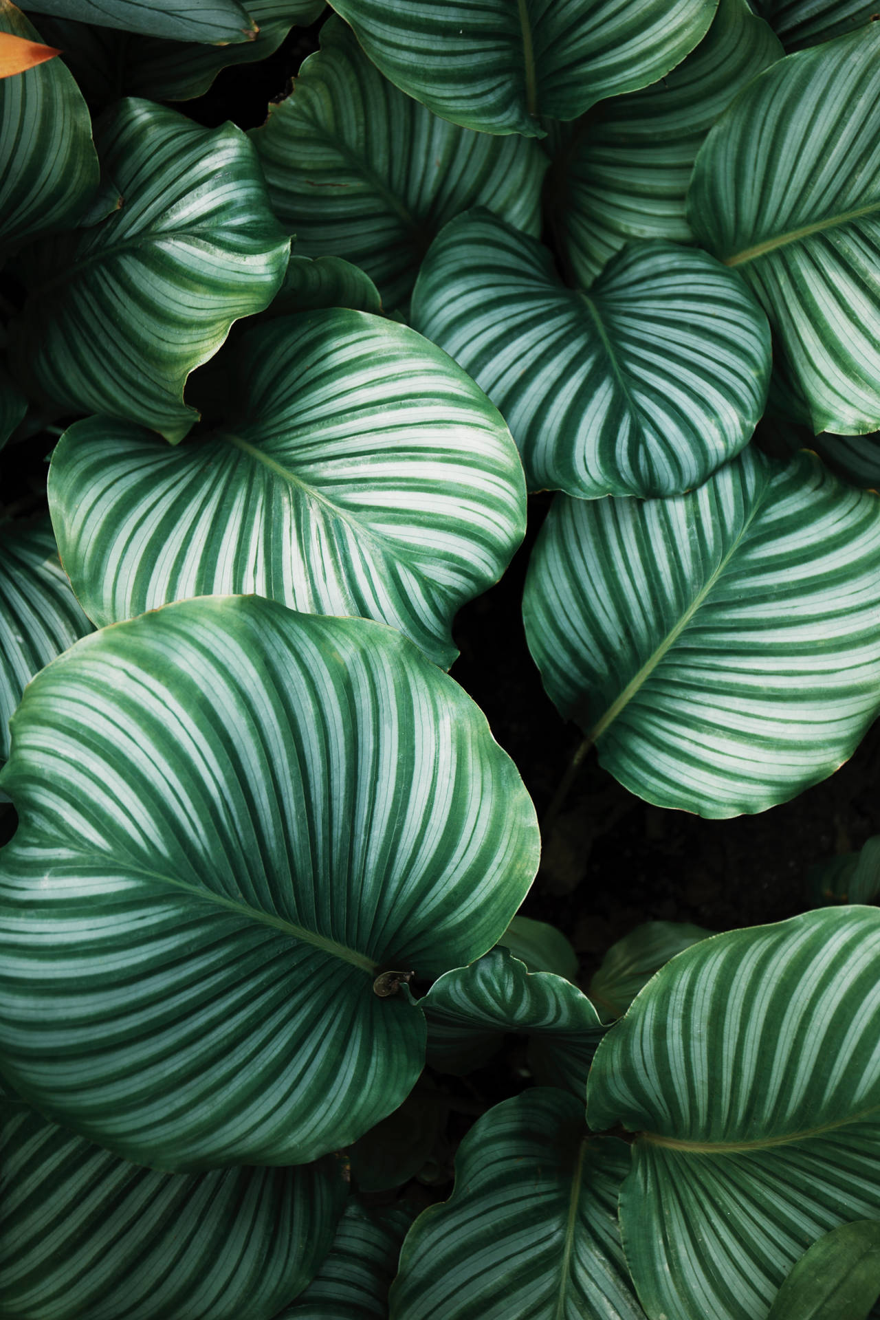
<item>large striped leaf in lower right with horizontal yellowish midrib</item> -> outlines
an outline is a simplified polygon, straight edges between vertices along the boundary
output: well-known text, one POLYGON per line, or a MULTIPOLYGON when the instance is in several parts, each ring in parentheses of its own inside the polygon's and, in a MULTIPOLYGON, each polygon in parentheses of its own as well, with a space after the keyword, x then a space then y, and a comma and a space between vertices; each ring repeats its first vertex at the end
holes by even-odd
POLYGON ((650 1320, 765 1320, 822 1233, 880 1218, 880 912, 827 908, 673 958, 599 1045, 592 1127, 650 1320))

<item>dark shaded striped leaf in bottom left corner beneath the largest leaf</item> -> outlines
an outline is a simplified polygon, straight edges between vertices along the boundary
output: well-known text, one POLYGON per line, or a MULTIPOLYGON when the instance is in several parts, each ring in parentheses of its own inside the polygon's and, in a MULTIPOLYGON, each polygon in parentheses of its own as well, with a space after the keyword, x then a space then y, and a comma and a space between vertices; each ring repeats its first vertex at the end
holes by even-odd
POLYGON ((4 1320, 272 1320, 330 1249, 332 1158, 157 1173, 28 1110, 0 1129, 4 1320))

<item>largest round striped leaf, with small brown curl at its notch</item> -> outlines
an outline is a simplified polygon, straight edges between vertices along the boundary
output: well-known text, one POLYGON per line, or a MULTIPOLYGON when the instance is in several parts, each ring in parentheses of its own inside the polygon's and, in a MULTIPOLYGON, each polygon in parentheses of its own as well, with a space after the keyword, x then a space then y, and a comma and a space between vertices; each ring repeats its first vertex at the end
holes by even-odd
POLYGON ((0 775, 0 1068, 157 1168, 288 1164, 412 1089, 401 977, 504 931, 534 812, 412 643, 256 597, 86 638, 28 688, 0 775))

